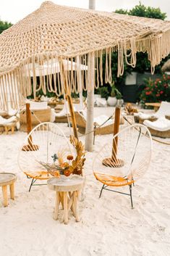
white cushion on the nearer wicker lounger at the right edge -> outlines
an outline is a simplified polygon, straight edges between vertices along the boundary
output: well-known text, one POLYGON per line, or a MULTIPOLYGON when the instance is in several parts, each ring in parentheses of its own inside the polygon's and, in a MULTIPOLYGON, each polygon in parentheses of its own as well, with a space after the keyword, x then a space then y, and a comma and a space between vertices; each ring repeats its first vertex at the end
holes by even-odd
POLYGON ((159 117, 158 120, 151 122, 149 120, 145 120, 143 122, 144 125, 152 128, 156 131, 169 131, 170 130, 170 120, 165 117, 159 117))

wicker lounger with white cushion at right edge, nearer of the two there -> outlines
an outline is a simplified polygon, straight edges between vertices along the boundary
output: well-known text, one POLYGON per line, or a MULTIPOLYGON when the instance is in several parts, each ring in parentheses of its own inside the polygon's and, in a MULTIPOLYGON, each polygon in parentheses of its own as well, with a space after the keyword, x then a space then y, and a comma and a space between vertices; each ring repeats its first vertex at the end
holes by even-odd
POLYGON ((145 120, 143 122, 153 136, 161 138, 170 138, 170 120, 165 117, 159 117, 156 121, 150 122, 150 120, 145 120))

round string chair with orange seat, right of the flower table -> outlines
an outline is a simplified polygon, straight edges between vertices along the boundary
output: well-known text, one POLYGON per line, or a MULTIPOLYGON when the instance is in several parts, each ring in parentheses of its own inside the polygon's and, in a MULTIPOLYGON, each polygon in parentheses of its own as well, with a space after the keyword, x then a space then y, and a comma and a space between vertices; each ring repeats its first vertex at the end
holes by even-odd
POLYGON ((117 133, 102 146, 93 161, 93 174, 103 189, 126 194, 132 202, 132 184, 145 174, 150 164, 152 138, 145 125, 135 124, 117 133), (129 194, 112 187, 129 186, 129 194))

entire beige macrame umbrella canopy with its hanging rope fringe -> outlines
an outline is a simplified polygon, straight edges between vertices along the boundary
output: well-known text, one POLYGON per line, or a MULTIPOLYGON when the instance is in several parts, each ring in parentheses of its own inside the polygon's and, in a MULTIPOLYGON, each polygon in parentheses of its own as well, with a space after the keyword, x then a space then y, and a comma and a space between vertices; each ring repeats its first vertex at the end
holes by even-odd
POLYGON ((83 89, 90 91, 93 85, 88 83, 88 71, 80 69, 80 65, 88 65, 90 53, 95 59, 95 88, 103 84, 103 54, 106 54, 104 79, 111 83, 112 51, 118 51, 118 76, 124 72, 124 58, 135 67, 137 51, 148 53, 154 70, 169 54, 169 40, 169 21, 63 7, 45 1, 39 9, 0 35, 0 108, 7 109, 6 84, 10 87, 12 107, 17 105, 16 90, 24 97, 32 91, 35 96, 41 88, 44 93, 48 90, 60 96, 64 93, 63 77, 70 91, 80 90, 80 79, 83 89), (49 72, 46 78, 42 72, 38 83, 33 71, 31 79, 27 68, 30 63, 35 70, 55 60, 60 67, 65 60, 77 62, 77 72, 73 68, 71 71, 63 69, 61 73, 49 72))

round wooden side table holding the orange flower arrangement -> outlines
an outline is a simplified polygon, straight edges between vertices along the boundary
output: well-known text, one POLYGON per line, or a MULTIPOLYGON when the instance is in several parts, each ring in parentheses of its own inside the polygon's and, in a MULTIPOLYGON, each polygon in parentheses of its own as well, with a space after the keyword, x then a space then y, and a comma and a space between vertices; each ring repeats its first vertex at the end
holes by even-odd
POLYGON ((61 222, 68 223, 68 212, 71 209, 76 221, 80 221, 77 210, 77 197, 82 189, 85 179, 82 176, 50 178, 47 181, 48 188, 56 191, 56 203, 54 210, 54 220, 58 219, 59 205, 64 209, 61 222))

